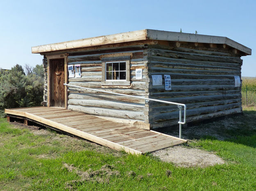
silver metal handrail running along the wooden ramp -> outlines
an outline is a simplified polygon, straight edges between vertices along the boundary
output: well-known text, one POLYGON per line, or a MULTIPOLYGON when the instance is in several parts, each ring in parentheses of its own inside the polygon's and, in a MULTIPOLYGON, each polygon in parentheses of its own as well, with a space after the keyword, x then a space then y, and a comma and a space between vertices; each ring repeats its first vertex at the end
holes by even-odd
POLYGON ((187 110, 186 104, 181 104, 181 103, 176 103, 176 102, 167 102, 167 101, 156 100, 156 99, 151 99, 151 98, 142 98, 142 97, 139 97, 139 96, 131 96, 131 95, 123 94, 123 93, 115 93, 115 92, 111 92, 111 91, 104 91, 104 90, 99 90, 99 89, 93 89, 93 88, 87 88, 87 87, 81 87, 81 86, 74 86, 74 85, 70 85, 70 84, 64 84, 64 85, 65 86, 70 86, 70 87, 82 88, 82 89, 89 89, 89 90, 99 91, 99 92, 104 92, 104 93, 111 93, 111 94, 115 94, 115 95, 119 95, 119 96, 127 96, 127 97, 132 97, 132 98, 143 99, 143 100, 150 100, 150 101, 155 101, 155 102, 177 105, 178 108, 179 108, 179 121, 178 121, 178 123, 179 123, 179 138, 181 138, 181 124, 186 123, 186 110, 187 110), (183 120, 183 122, 182 122, 182 106, 184 107, 184 118, 183 118, 184 120, 183 120))

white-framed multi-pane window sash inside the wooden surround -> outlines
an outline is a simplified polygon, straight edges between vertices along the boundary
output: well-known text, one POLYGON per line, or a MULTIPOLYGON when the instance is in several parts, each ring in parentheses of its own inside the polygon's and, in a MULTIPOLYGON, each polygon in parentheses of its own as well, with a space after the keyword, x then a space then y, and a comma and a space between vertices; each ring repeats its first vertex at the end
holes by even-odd
POLYGON ((107 80, 126 80, 126 62, 106 62, 107 80))

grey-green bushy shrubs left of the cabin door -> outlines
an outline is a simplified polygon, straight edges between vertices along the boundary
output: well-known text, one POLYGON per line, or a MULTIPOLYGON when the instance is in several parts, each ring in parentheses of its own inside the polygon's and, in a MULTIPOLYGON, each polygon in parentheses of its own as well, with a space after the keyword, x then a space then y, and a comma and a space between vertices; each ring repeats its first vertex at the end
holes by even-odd
POLYGON ((11 70, 0 70, 0 116, 4 109, 39 106, 43 100, 43 67, 37 65, 34 72, 25 75, 16 64, 11 70), (42 71, 41 71, 42 70, 42 71))

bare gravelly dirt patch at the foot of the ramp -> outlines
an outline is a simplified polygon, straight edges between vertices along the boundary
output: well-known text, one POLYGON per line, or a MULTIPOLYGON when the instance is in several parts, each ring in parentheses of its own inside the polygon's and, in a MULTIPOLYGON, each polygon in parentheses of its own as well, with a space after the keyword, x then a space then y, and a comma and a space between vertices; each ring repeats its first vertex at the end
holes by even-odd
POLYGON ((152 154, 162 161, 172 162, 179 167, 208 167, 225 163, 214 153, 182 146, 161 149, 152 154))

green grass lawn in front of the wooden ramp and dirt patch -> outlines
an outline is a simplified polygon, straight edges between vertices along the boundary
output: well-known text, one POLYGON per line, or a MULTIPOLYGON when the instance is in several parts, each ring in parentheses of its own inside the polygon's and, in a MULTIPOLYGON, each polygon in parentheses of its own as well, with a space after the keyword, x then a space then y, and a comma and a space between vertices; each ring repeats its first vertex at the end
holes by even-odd
POLYGON ((113 151, 53 131, 34 133, 0 119, 0 189, 256 190, 255 118, 254 109, 237 118, 240 130, 224 132, 233 138, 205 135, 189 142, 227 161, 206 168, 176 167, 150 154, 113 151))

